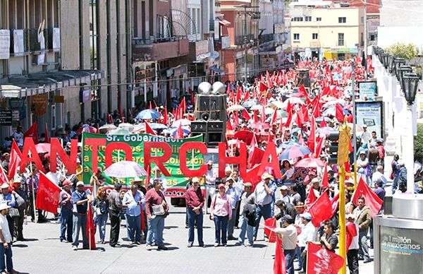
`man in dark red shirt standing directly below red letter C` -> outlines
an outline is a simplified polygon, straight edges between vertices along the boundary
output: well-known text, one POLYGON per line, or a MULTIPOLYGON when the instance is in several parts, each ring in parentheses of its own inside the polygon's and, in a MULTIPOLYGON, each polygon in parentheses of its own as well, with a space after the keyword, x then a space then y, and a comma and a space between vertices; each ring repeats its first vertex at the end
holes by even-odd
POLYGON ((204 247, 202 237, 204 196, 198 177, 193 177, 191 184, 192 186, 185 192, 185 203, 188 210, 188 247, 192 247, 194 244, 195 225, 197 226, 198 245, 204 247))

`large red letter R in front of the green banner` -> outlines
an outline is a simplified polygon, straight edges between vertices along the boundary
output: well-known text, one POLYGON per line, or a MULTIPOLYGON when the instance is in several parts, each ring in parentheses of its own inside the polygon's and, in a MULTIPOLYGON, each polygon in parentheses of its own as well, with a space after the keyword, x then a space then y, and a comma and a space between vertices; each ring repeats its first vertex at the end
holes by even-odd
POLYGON ((151 169, 148 169, 148 168, 150 167, 152 162, 154 162, 157 165, 157 167, 159 167, 161 173, 163 173, 164 176, 170 177, 171 174, 168 172, 166 167, 164 167, 163 163, 167 162, 167 160, 169 160, 171 158, 171 155, 172 155, 172 150, 171 150, 171 146, 168 145, 168 143, 145 142, 144 143, 144 168, 145 168, 145 170, 151 170, 151 169), (164 150, 164 154, 161 155, 161 156, 152 157, 152 155, 151 155, 152 148, 156 148, 156 149, 161 148, 162 150, 164 150))

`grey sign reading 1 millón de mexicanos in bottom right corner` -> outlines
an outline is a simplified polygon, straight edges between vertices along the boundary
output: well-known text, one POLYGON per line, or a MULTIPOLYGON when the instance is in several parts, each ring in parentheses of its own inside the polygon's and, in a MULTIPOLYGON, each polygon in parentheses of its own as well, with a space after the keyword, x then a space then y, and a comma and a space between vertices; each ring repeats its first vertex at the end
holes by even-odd
POLYGON ((379 273, 422 273, 422 230, 381 226, 379 273))

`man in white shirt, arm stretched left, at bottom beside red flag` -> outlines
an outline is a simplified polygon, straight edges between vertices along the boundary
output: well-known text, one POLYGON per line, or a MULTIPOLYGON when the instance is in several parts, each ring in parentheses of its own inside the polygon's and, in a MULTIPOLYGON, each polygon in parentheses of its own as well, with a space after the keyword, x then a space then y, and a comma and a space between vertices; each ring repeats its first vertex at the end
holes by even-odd
POLYGON ((283 227, 276 227, 275 232, 282 240, 283 255, 285 255, 286 274, 294 274, 295 246, 297 246, 297 229, 291 215, 282 218, 283 227))

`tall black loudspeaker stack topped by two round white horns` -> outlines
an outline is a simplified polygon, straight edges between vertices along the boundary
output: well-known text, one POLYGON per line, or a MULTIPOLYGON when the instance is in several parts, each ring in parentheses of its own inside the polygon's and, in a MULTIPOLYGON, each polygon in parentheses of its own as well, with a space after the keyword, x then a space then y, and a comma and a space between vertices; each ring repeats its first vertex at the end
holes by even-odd
POLYGON ((208 146, 225 141, 226 133, 226 94, 225 85, 202 82, 198 85, 200 94, 195 95, 195 121, 191 122, 192 136, 204 135, 208 146))

